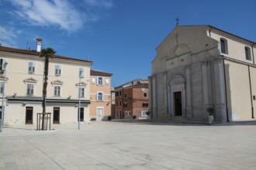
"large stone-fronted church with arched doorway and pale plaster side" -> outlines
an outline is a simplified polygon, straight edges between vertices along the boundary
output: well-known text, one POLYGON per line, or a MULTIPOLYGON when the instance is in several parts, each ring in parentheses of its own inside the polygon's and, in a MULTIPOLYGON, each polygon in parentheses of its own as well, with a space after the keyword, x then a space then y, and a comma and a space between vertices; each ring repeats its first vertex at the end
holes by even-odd
POLYGON ((157 46, 150 116, 157 121, 254 120, 255 42, 213 26, 177 26, 157 46))

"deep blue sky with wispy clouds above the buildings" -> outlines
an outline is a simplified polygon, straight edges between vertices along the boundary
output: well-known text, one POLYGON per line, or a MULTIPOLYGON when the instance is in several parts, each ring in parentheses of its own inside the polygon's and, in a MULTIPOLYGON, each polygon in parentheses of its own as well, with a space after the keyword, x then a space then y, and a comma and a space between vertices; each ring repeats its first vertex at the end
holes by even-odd
POLYGON ((112 87, 147 78, 155 48, 176 26, 210 25, 256 42, 255 0, 0 0, 0 43, 93 61, 112 87))

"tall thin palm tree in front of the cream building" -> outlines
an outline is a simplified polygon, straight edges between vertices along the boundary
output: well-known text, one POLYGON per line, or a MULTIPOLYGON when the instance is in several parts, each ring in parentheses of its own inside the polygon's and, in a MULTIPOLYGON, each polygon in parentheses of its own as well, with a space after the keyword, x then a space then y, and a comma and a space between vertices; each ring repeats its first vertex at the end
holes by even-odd
POLYGON ((49 70, 49 59, 54 57, 56 51, 52 48, 42 49, 40 57, 44 57, 44 71, 43 71, 43 120, 42 120, 42 131, 44 127, 45 110, 46 110, 46 100, 47 100, 47 80, 48 80, 48 70, 49 70))

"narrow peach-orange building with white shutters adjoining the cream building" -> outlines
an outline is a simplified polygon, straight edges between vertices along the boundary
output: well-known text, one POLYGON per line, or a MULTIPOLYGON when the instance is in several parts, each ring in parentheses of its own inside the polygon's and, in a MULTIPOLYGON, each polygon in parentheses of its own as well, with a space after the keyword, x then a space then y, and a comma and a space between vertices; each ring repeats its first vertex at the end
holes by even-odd
POLYGON ((91 120, 106 121, 111 117, 111 76, 111 73, 91 70, 91 120))

